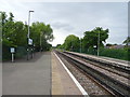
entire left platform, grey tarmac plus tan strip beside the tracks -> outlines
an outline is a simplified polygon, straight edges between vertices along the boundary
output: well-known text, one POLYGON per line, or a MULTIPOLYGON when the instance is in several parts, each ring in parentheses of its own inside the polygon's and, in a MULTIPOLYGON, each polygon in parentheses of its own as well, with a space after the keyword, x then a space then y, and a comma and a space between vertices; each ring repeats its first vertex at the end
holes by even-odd
POLYGON ((81 85, 72 77, 56 54, 36 53, 30 60, 18 59, 2 64, 2 95, 83 97, 81 85))

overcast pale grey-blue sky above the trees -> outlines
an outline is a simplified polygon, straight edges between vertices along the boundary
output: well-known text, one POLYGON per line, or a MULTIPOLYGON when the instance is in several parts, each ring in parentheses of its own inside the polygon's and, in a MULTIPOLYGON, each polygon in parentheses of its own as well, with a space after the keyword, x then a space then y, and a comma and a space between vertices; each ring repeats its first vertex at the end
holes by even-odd
POLYGON ((32 22, 43 22, 53 28, 54 46, 68 34, 83 37, 95 27, 109 29, 107 43, 121 44, 128 36, 127 2, 16 2, 2 0, 0 11, 12 12, 15 20, 27 22, 28 11, 32 22))

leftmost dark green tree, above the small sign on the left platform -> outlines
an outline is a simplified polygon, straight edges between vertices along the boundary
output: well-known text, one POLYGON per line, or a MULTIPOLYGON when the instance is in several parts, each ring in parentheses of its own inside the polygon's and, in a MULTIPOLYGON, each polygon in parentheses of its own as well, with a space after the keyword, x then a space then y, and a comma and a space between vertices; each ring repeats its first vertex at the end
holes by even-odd
MULTIPOLYGON (((5 13, 4 17, 6 16, 5 13)), ((10 13, 10 17, 4 18, 4 24, 2 25, 2 41, 3 45, 6 46, 24 46, 27 44, 25 26, 22 22, 14 22, 13 14, 10 13)))

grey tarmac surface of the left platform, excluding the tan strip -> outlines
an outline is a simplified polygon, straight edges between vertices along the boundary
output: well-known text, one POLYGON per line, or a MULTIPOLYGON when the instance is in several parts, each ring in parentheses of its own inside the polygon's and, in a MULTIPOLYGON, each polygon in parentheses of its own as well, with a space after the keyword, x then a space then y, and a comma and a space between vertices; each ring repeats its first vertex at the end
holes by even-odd
POLYGON ((2 95, 50 95, 51 52, 2 64, 2 95))

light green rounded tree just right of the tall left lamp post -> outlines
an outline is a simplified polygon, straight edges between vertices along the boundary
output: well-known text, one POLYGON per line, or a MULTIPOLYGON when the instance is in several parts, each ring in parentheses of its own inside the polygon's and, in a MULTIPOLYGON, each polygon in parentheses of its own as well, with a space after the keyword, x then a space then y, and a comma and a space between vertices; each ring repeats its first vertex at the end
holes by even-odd
POLYGON ((53 30, 50 25, 46 25, 43 23, 32 23, 30 27, 30 38, 34 40, 37 50, 48 50, 49 41, 53 41, 53 30))

